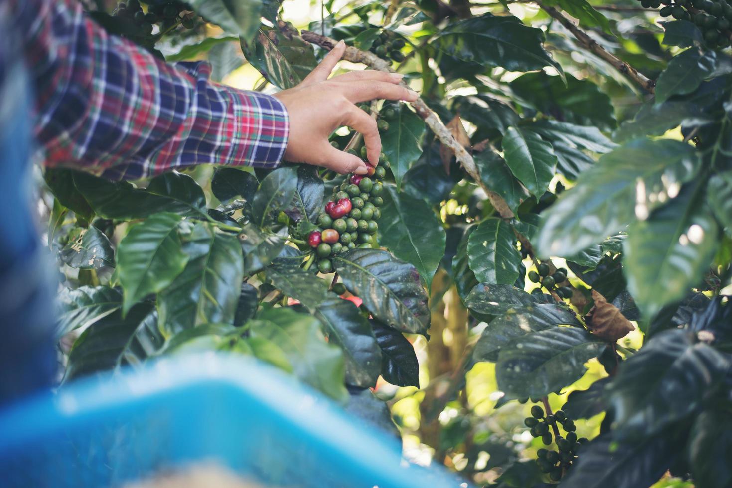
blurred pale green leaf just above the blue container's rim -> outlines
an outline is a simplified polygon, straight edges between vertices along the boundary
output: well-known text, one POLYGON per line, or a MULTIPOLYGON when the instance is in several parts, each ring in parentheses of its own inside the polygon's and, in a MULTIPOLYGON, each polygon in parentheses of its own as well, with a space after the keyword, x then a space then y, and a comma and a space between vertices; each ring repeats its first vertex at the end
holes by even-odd
POLYGON ((345 401, 343 353, 326 342, 320 323, 291 309, 268 309, 250 322, 251 337, 275 342, 292 365, 294 375, 334 399, 345 401))

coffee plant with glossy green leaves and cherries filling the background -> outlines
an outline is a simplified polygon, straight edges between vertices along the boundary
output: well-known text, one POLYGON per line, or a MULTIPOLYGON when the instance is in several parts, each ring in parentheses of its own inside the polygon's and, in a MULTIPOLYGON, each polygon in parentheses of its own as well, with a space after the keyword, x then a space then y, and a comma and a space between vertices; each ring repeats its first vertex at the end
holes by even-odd
POLYGON ((363 105, 367 176, 45 170, 63 382, 225 350, 476 484, 732 485, 725 0, 86 4, 214 80, 291 88, 345 40, 420 99, 363 105))

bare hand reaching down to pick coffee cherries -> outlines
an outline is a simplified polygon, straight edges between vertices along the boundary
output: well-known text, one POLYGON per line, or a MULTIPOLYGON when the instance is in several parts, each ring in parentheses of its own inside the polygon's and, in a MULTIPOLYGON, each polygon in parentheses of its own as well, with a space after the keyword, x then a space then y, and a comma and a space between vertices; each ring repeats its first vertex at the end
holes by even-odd
POLYGON ((338 151, 328 142, 338 127, 347 126, 363 135, 371 165, 378 165, 381 138, 376 120, 356 103, 385 100, 417 100, 417 93, 399 86, 402 75, 383 71, 351 71, 328 79, 346 50, 341 41, 298 86, 275 94, 287 108, 290 136, 285 159, 323 166, 338 173, 365 174, 361 158, 338 151))

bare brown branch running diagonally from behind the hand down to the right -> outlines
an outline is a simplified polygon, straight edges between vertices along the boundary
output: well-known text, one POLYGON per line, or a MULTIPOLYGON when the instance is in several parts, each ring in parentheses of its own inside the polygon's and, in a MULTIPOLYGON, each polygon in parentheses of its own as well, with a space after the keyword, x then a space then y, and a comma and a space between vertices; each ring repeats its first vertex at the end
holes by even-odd
MULTIPOLYGON (((327 50, 334 48, 337 42, 330 37, 321 36, 320 34, 315 34, 315 32, 311 31, 302 31, 301 35, 303 40, 317 44, 321 48, 325 48, 327 50)), ((374 70, 395 72, 387 61, 379 58, 376 54, 362 51, 351 46, 346 47, 346 52, 343 53, 343 59, 350 61, 351 63, 366 64, 374 70)), ((405 88, 408 88, 406 83, 402 82, 400 84, 405 88)), ((471 178, 474 179, 483 191, 485 191, 488 195, 488 200, 490 200, 490 204, 493 205, 493 208, 496 209, 496 211, 498 211, 498 214, 500 214, 504 219, 511 219, 514 217, 513 211, 507 205, 506 200, 486 186, 480 178, 480 173, 475 165, 473 157, 463 146, 460 145, 460 143, 458 143, 457 140, 455 140, 455 138, 452 137, 449 129, 445 127, 445 124, 443 124, 436 113, 427 106, 425 101, 422 100, 422 98, 417 98, 417 100, 411 102, 411 106, 414 108, 414 111, 422 117, 425 124, 435 134, 436 138, 438 138, 438 140, 450 151, 455 153, 455 158, 458 159, 460 165, 466 170, 471 178)))

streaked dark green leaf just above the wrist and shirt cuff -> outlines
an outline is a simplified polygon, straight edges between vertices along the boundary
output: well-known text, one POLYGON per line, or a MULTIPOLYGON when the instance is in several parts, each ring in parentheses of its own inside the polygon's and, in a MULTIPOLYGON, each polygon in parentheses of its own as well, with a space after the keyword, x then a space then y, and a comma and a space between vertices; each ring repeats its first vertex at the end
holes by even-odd
POLYGON ((279 29, 262 27, 256 36, 242 36, 242 50, 247 61, 280 89, 298 85, 318 65, 313 45, 299 36, 287 37, 279 29))

